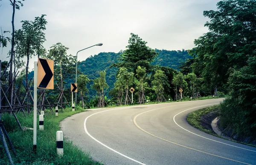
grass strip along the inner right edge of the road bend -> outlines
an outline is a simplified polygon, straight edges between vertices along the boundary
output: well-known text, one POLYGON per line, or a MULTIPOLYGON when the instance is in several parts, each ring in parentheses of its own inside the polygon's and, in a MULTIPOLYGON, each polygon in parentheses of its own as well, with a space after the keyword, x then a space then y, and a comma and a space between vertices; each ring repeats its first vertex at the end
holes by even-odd
MULTIPOLYGON (((204 128, 201 125, 201 116, 204 116, 205 114, 207 114, 211 111, 216 111, 216 113, 218 113, 220 108, 221 108, 220 105, 214 105, 214 106, 211 106, 211 107, 199 109, 197 111, 194 111, 194 112, 191 112, 190 114, 188 114, 186 120, 187 120, 187 122, 189 122, 190 125, 192 125, 195 128, 198 128, 200 131, 203 131, 207 134, 211 134, 215 137, 226 139, 226 138, 221 137, 221 136, 219 136, 215 133, 212 133, 212 130, 208 130, 208 129, 204 128)), ((231 139, 226 139, 226 140, 236 142, 236 143, 240 143, 240 144, 244 144, 244 145, 249 145, 249 146, 252 146, 252 147, 256 147, 256 145, 247 144, 247 143, 244 143, 244 142, 238 142, 236 140, 231 140, 231 139)))

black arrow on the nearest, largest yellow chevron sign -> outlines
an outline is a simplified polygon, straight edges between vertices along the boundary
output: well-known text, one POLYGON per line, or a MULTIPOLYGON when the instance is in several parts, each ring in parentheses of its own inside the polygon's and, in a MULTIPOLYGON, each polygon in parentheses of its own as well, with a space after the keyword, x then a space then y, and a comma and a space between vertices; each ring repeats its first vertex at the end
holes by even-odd
POLYGON ((40 63, 44 69, 45 75, 41 83, 39 84, 39 88, 46 88, 47 85, 49 84, 50 80, 52 79, 52 70, 49 67, 49 64, 47 63, 47 60, 45 59, 40 59, 40 63))

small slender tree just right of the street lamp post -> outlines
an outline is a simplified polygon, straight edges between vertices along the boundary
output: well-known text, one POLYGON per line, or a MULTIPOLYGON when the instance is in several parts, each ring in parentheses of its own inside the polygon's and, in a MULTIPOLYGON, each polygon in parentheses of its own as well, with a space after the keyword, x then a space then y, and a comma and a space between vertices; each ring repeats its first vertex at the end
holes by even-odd
POLYGON ((77 88, 78 88, 78 92, 81 93, 81 102, 84 108, 84 94, 88 93, 88 89, 87 89, 87 83, 89 83, 89 79, 87 78, 87 75, 84 74, 80 74, 77 77, 77 88))

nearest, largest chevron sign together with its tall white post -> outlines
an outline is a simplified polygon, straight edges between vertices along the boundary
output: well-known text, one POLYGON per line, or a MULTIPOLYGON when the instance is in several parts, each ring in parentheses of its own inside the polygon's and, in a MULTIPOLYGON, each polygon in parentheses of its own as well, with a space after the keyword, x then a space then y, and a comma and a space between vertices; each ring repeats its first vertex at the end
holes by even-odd
POLYGON ((34 120, 33 120, 33 151, 36 152, 37 133, 37 90, 53 89, 53 60, 38 58, 34 62, 34 120))

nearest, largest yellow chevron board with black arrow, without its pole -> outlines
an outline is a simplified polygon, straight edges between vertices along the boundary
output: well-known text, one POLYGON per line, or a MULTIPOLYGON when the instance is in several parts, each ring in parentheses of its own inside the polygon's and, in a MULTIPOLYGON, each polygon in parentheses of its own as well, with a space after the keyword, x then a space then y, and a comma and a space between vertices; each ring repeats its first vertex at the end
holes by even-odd
POLYGON ((53 89, 53 60, 38 58, 38 88, 53 89))

